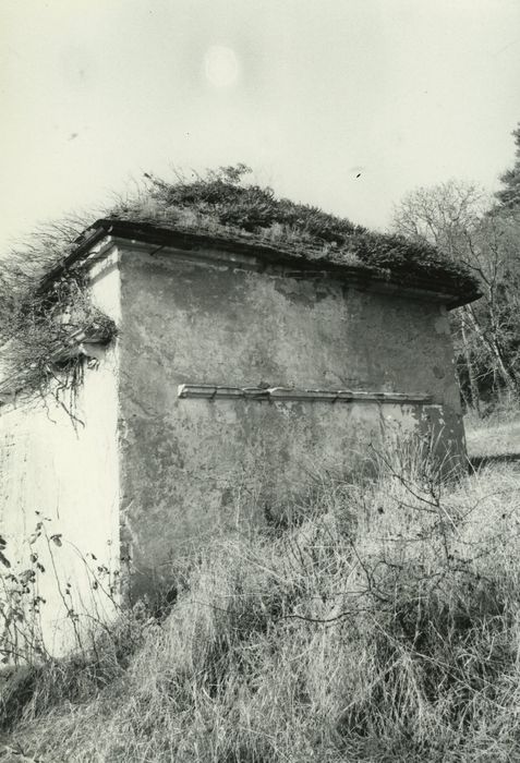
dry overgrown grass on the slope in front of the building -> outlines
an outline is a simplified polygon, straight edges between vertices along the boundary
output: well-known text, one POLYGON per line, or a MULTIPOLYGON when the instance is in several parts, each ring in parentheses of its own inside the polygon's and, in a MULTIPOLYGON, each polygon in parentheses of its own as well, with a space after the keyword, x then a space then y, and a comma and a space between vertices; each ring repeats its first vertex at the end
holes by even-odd
POLYGON ((520 761, 520 470, 448 486, 398 455, 291 513, 186 560, 168 614, 8 682, 0 761, 520 761))

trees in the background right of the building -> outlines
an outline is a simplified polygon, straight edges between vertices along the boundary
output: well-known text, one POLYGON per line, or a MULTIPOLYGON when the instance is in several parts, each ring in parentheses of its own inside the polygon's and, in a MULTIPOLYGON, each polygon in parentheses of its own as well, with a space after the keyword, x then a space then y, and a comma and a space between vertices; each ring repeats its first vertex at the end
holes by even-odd
POLYGON ((407 194, 392 232, 434 244, 477 278, 482 298, 451 313, 457 370, 467 412, 485 416, 520 398, 520 123, 513 166, 489 195, 448 180, 407 194))

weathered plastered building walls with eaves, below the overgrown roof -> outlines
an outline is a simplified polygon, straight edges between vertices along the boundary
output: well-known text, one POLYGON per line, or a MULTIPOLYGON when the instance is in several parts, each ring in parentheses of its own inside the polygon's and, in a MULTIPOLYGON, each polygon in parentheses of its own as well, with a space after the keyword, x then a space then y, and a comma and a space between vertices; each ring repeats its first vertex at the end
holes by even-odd
MULTIPOLYGON (((387 435, 430 434, 439 460, 463 461, 448 311, 474 288, 118 219, 62 267, 78 259, 118 337, 77 339, 75 425, 52 400, 4 390, 0 524, 22 558, 44 517, 87 609, 93 566, 117 574, 130 558, 137 594, 195 543, 275 516, 313 475, 360 469, 387 435)), ((48 629, 63 611, 47 576, 48 629)))

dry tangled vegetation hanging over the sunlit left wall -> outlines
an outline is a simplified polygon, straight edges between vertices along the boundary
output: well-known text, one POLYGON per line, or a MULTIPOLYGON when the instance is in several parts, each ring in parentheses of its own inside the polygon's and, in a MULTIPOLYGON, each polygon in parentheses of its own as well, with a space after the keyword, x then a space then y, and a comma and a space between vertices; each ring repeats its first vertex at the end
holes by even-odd
POLYGON ((75 421, 75 391, 84 363, 82 341, 109 342, 111 318, 92 302, 85 266, 77 263, 44 289, 52 268, 70 254, 84 218, 39 228, 10 253, 0 272, 0 402, 51 392, 75 421))

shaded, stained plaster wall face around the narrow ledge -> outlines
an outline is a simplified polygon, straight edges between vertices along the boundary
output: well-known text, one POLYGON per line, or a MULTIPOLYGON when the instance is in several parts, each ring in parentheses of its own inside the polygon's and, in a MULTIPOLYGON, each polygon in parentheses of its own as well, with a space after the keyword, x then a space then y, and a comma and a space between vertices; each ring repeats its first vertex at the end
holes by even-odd
MULTIPOLYGON (((137 573, 276 512, 311 473, 356 468, 385 427, 462 444, 447 315, 186 253, 121 254, 122 521, 137 573), (432 405, 179 399, 178 385, 423 392, 432 405)), ((138 577, 138 574, 137 574, 138 577)))

